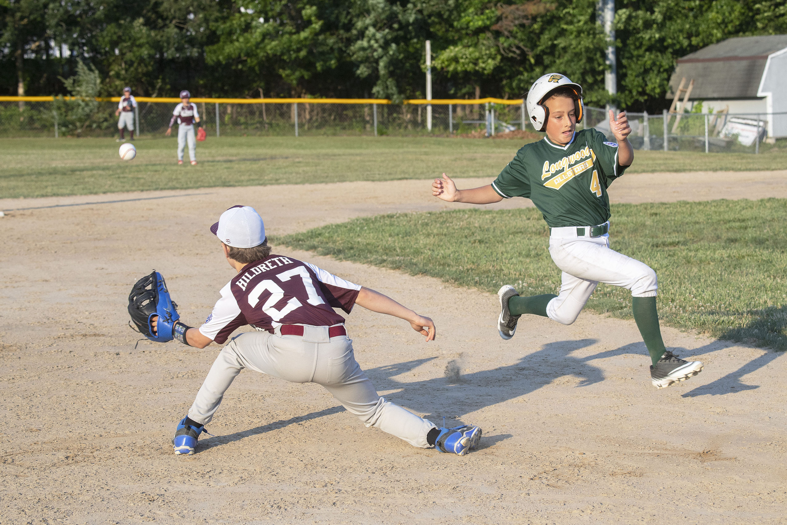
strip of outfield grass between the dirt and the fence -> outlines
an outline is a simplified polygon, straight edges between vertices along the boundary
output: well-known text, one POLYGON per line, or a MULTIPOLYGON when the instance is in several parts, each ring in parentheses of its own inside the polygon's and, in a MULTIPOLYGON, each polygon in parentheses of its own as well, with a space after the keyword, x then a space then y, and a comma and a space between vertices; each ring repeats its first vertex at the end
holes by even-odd
MULTIPOLYGON (((140 139, 121 161, 113 139, 2 139, 0 198, 351 180, 494 177, 515 140, 396 137, 210 137, 199 165, 178 167, 176 139, 140 139)), ((638 151, 629 173, 781 169, 787 153, 638 151)))

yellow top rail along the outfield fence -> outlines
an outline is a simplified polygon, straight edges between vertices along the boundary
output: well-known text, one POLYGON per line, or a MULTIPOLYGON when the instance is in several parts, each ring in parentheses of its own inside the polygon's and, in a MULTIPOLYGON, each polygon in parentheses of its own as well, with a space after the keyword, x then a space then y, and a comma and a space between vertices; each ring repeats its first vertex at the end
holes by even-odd
MULTIPOLYGON (((0 102, 53 102, 54 100, 76 100, 77 97, 3 97, 0 102)), ((120 102, 120 97, 95 98, 98 102, 120 102)), ((177 104, 179 98, 174 97, 135 97, 137 102, 170 103, 177 104)), ((386 98, 191 98, 191 102, 206 102, 217 104, 393 104, 386 98)), ((504 98, 413 98, 402 101, 403 104, 433 104, 433 105, 471 105, 471 104, 493 104, 519 105, 524 101, 522 98, 507 100, 504 98)))

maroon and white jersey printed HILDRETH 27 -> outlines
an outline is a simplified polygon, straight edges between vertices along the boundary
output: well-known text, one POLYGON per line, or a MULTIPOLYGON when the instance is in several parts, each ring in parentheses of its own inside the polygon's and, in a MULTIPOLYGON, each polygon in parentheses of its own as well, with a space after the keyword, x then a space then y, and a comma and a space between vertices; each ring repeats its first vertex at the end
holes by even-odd
POLYGON ((246 264, 221 289, 221 298, 199 331, 221 344, 246 324, 259 331, 273 331, 283 324, 342 324, 344 317, 334 308, 349 313, 359 290, 359 285, 314 264, 270 255, 246 264))

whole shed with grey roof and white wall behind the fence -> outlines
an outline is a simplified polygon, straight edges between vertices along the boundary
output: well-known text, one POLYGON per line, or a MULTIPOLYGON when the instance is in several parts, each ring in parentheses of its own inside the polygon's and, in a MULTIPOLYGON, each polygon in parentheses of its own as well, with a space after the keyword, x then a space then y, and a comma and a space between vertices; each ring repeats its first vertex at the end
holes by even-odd
POLYGON ((787 113, 787 35, 726 39, 679 58, 667 98, 684 77, 694 79, 686 109, 702 101, 704 112, 759 114, 769 138, 787 137, 787 114, 778 115, 787 113))

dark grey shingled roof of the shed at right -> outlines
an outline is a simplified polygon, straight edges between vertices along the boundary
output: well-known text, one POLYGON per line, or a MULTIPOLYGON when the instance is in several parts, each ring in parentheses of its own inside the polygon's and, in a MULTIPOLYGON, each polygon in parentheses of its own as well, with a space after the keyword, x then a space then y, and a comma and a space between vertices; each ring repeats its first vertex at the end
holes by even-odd
POLYGON ((787 35, 743 36, 687 54, 678 58, 667 98, 674 98, 684 76, 684 87, 694 79, 690 100, 757 98, 768 55, 785 47, 787 35))

